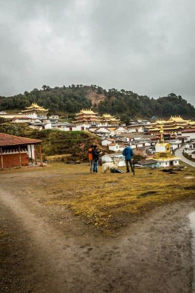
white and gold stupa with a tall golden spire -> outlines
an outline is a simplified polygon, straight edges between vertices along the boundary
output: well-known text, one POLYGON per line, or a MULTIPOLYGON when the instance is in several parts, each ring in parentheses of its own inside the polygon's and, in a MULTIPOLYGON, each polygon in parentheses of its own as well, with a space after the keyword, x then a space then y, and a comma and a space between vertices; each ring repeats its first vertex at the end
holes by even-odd
POLYGON ((179 165, 179 158, 171 152, 171 145, 164 142, 163 126, 160 126, 160 142, 156 144, 156 154, 153 159, 159 162, 159 167, 169 167, 179 165))

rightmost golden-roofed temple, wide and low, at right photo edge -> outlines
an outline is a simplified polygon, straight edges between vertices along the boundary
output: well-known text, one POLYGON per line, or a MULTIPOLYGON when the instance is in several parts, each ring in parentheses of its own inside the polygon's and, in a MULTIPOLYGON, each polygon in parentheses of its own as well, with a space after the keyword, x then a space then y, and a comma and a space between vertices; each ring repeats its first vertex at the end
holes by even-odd
POLYGON ((155 123, 151 123, 147 128, 150 132, 157 133, 160 131, 160 126, 162 126, 166 132, 177 132, 185 128, 195 127, 195 121, 184 120, 180 116, 171 116, 168 120, 156 120, 155 123))

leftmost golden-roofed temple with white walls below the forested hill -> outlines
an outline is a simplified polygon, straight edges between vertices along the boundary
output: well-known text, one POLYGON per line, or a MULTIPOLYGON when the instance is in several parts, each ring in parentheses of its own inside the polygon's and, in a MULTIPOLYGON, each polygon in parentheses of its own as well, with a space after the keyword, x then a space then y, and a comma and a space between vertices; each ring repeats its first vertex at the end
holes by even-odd
POLYGON ((30 118, 47 119, 48 109, 44 109, 43 106, 39 106, 37 103, 32 103, 30 107, 26 107, 26 110, 22 110, 21 112, 24 116, 30 118))

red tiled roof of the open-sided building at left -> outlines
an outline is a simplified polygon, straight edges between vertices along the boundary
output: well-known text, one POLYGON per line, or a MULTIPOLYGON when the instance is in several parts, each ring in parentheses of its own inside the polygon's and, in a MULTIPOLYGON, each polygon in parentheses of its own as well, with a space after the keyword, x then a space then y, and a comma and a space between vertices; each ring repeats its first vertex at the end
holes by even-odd
POLYGON ((25 138, 6 133, 0 133, 0 146, 30 145, 41 143, 38 139, 25 138))

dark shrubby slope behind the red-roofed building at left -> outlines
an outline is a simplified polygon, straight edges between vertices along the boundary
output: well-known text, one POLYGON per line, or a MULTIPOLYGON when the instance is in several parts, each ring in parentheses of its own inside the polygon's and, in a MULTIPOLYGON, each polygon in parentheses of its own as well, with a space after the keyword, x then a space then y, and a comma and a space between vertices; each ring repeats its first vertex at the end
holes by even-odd
POLYGON ((31 129, 26 125, 1 124, 0 132, 17 136, 39 139, 42 141, 42 152, 44 156, 56 154, 71 154, 68 157, 72 161, 88 160, 88 148, 91 144, 99 145, 98 137, 92 136, 85 131, 61 131, 31 129))

